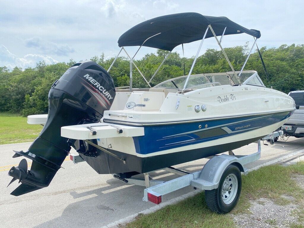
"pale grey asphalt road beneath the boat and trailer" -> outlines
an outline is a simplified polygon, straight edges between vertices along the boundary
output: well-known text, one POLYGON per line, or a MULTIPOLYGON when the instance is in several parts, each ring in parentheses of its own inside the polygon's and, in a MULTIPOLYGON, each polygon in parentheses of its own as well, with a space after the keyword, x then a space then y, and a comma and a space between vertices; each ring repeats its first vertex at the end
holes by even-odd
MULTIPOLYGON (((155 204, 142 201, 144 187, 128 185, 110 174, 97 174, 86 162, 73 164, 66 159, 50 186, 35 192, 15 197, 10 195, 17 186, 15 181, 8 188, 11 177, 7 175, 12 166, 17 166, 22 157, 12 158, 12 150, 27 150, 31 143, 0 145, 0 225, 1 227, 94 227, 98 228, 126 216, 148 209, 155 204)), ((252 168, 267 161, 285 156, 304 148, 304 138, 290 137, 287 142, 262 145, 262 157, 250 163, 252 168), (284 147, 283 147, 284 145, 284 147)), ((233 152, 251 154, 257 144, 251 143, 233 152)), ((76 151, 71 153, 77 154, 76 151)), ((188 172, 198 171, 207 159, 200 159, 174 166, 188 172)), ((30 162, 30 161, 29 161, 30 162)), ((162 180, 177 177, 166 171, 157 171, 151 176, 162 180)), ((186 187, 164 195, 163 202, 193 191, 186 187)))

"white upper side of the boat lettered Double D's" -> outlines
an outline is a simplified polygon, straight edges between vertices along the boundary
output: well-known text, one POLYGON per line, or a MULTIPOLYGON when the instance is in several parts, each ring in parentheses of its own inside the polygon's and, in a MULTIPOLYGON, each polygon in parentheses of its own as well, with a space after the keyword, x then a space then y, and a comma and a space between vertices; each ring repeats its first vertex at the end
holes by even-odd
POLYGON ((158 111, 125 108, 105 111, 104 118, 132 123, 168 123, 294 110, 294 105, 291 97, 273 89, 254 85, 222 85, 185 94, 168 93, 158 111), (196 112, 195 106, 201 108, 202 105, 206 106, 206 111, 200 109, 196 112))

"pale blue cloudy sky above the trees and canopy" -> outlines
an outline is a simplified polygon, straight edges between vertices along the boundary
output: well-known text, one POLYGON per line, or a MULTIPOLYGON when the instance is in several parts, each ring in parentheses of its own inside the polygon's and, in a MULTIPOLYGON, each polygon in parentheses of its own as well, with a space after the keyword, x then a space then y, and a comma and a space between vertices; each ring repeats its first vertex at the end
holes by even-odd
MULTIPOLYGON (((0 67, 35 67, 46 64, 87 60, 102 52, 105 58, 119 51, 117 40, 126 30, 145 20, 180 12, 226 16, 248 29, 261 31, 259 47, 303 44, 304 1, 278 0, 0 0, 0 67)), ((225 36, 223 47, 253 44, 247 34, 225 36)), ((185 44, 185 57, 196 54, 199 41, 185 44)), ((206 39, 207 48, 219 49, 215 39, 206 39)), ((136 47, 126 47, 133 56, 136 47)), ((136 58, 155 52, 143 47, 136 58)), ((173 51, 182 55, 180 46, 173 51)), ((135 58, 135 59, 136 59, 135 58)))

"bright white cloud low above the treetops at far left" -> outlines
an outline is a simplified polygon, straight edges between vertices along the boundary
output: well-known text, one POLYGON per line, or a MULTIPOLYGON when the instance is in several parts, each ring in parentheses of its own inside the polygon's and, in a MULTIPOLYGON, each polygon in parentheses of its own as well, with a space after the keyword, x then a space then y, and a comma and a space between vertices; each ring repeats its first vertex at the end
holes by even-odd
POLYGON ((18 57, 12 54, 4 45, 0 45, 0 66, 6 66, 9 69, 17 66, 25 69, 26 67, 36 67, 36 63, 39 61, 44 61, 46 64, 58 63, 52 57, 44 55, 27 54, 23 57, 18 57))

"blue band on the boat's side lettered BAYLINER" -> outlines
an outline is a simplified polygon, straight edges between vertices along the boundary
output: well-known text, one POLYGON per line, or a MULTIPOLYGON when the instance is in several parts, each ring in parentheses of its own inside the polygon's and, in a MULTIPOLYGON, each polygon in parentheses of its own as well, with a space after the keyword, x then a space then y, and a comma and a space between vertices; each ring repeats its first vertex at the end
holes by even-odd
POLYGON ((138 154, 150 154, 216 140, 278 123, 291 114, 292 112, 288 111, 195 123, 144 126, 145 135, 133 137, 135 150, 138 154), (201 125, 201 129, 199 129, 199 125, 201 125))

